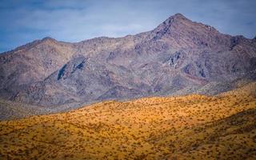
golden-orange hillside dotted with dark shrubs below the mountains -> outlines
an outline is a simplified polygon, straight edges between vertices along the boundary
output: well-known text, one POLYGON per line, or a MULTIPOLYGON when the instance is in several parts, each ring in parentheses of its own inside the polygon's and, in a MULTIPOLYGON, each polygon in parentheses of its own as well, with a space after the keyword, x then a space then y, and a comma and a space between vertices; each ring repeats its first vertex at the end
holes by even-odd
POLYGON ((0 122, 0 159, 256 159, 255 89, 0 122))

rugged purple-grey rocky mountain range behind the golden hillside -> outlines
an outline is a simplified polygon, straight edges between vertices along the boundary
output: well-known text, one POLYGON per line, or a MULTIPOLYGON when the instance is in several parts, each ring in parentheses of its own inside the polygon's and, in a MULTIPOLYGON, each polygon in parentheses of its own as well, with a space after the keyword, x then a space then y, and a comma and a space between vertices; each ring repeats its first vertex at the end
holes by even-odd
POLYGON ((154 30, 124 38, 44 38, 0 54, 0 95, 58 106, 188 94, 241 78, 254 81, 255 70, 254 39, 221 34, 175 14, 154 30))

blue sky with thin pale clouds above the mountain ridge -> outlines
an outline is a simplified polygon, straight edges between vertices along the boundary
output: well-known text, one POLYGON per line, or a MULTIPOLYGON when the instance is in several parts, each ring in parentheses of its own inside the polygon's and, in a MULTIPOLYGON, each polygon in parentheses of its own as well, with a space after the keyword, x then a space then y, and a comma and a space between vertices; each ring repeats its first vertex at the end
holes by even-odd
POLYGON ((256 0, 0 0, 0 52, 44 37, 138 34, 176 13, 225 34, 256 36, 256 0))

